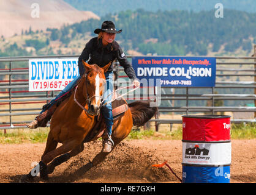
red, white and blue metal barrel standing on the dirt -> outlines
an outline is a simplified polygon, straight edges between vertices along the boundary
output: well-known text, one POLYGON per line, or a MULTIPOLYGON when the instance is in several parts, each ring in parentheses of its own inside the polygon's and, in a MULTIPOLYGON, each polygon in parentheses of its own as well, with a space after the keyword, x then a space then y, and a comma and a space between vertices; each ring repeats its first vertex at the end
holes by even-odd
POLYGON ((183 183, 230 183, 230 116, 182 117, 183 183))

